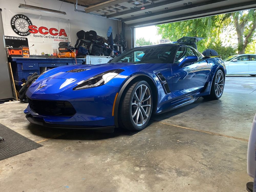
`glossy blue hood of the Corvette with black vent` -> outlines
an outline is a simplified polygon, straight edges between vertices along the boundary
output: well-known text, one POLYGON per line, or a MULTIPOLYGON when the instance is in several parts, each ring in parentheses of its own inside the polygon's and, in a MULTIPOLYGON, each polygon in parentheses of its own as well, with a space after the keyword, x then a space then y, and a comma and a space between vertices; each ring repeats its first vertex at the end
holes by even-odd
POLYGON ((88 78, 94 77, 105 71, 112 69, 122 69, 130 65, 140 65, 134 63, 105 63, 98 65, 72 65, 65 67, 54 68, 43 76, 45 78, 58 78, 58 79, 70 79, 73 81, 86 80, 88 78))

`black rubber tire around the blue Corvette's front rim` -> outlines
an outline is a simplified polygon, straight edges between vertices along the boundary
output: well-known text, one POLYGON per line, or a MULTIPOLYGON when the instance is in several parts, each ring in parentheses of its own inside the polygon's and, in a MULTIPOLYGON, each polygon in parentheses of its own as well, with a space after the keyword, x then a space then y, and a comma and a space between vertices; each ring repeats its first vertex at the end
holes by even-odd
MULTIPOLYGON (((129 85, 128 85, 129 86, 129 85)), ((150 121, 150 117, 152 114, 152 109, 153 109, 153 95, 152 95, 152 90, 150 85, 146 82, 146 81, 137 81, 133 84, 131 84, 128 89, 126 89, 127 91, 124 92, 124 94, 122 95, 122 98, 120 100, 120 107, 119 107, 119 126, 127 129, 127 130, 132 130, 132 131, 139 131, 144 129, 148 122, 150 121), (145 121, 145 123, 141 126, 137 126, 136 123, 134 122, 133 118, 132 118, 132 100, 133 100, 133 95, 135 94, 135 91, 137 90, 138 87, 140 87, 141 85, 145 85, 147 86, 148 90, 150 91, 150 97, 151 97, 151 108, 149 110, 149 115, 147 120, 145 121)), ((142 105, 142 103, 141 103, 142 105)))

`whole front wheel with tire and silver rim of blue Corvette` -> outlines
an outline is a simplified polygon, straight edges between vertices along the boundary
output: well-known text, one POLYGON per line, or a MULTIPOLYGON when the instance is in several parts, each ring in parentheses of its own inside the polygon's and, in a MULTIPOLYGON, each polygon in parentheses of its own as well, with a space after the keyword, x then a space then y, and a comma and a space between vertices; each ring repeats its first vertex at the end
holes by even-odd
POLYGON ((152 91, 146 81, 130 85, 121 99, 119 125, 128 130, 144 129, 153 109, 152 91))

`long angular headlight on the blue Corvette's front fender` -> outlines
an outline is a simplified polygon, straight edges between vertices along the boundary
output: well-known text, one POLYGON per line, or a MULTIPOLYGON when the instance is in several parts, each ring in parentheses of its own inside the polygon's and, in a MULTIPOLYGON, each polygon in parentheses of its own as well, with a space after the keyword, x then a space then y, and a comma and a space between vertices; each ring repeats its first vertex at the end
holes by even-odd
POLYGON ((87 89, 87 88, 104 85, 107 82, 109 82, 111 79, 113 79, 115 76, 117 76, 119 73, 121 73, 122 71, 124 70, 114 69, 114 70, 106 71, 104 73, 91 77, 90 79, 81 81, 78 86, 73 88, 73 90, 87 89))

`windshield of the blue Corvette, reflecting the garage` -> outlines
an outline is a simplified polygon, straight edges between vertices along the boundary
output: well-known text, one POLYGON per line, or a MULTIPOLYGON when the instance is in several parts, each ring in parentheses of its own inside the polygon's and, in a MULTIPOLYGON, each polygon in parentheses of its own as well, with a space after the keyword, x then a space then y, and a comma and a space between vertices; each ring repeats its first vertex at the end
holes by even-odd
POLYGON ((176 45, 136 47, 115 57, 111 62, 170 63, 174 60, 175 52, 176 45))

